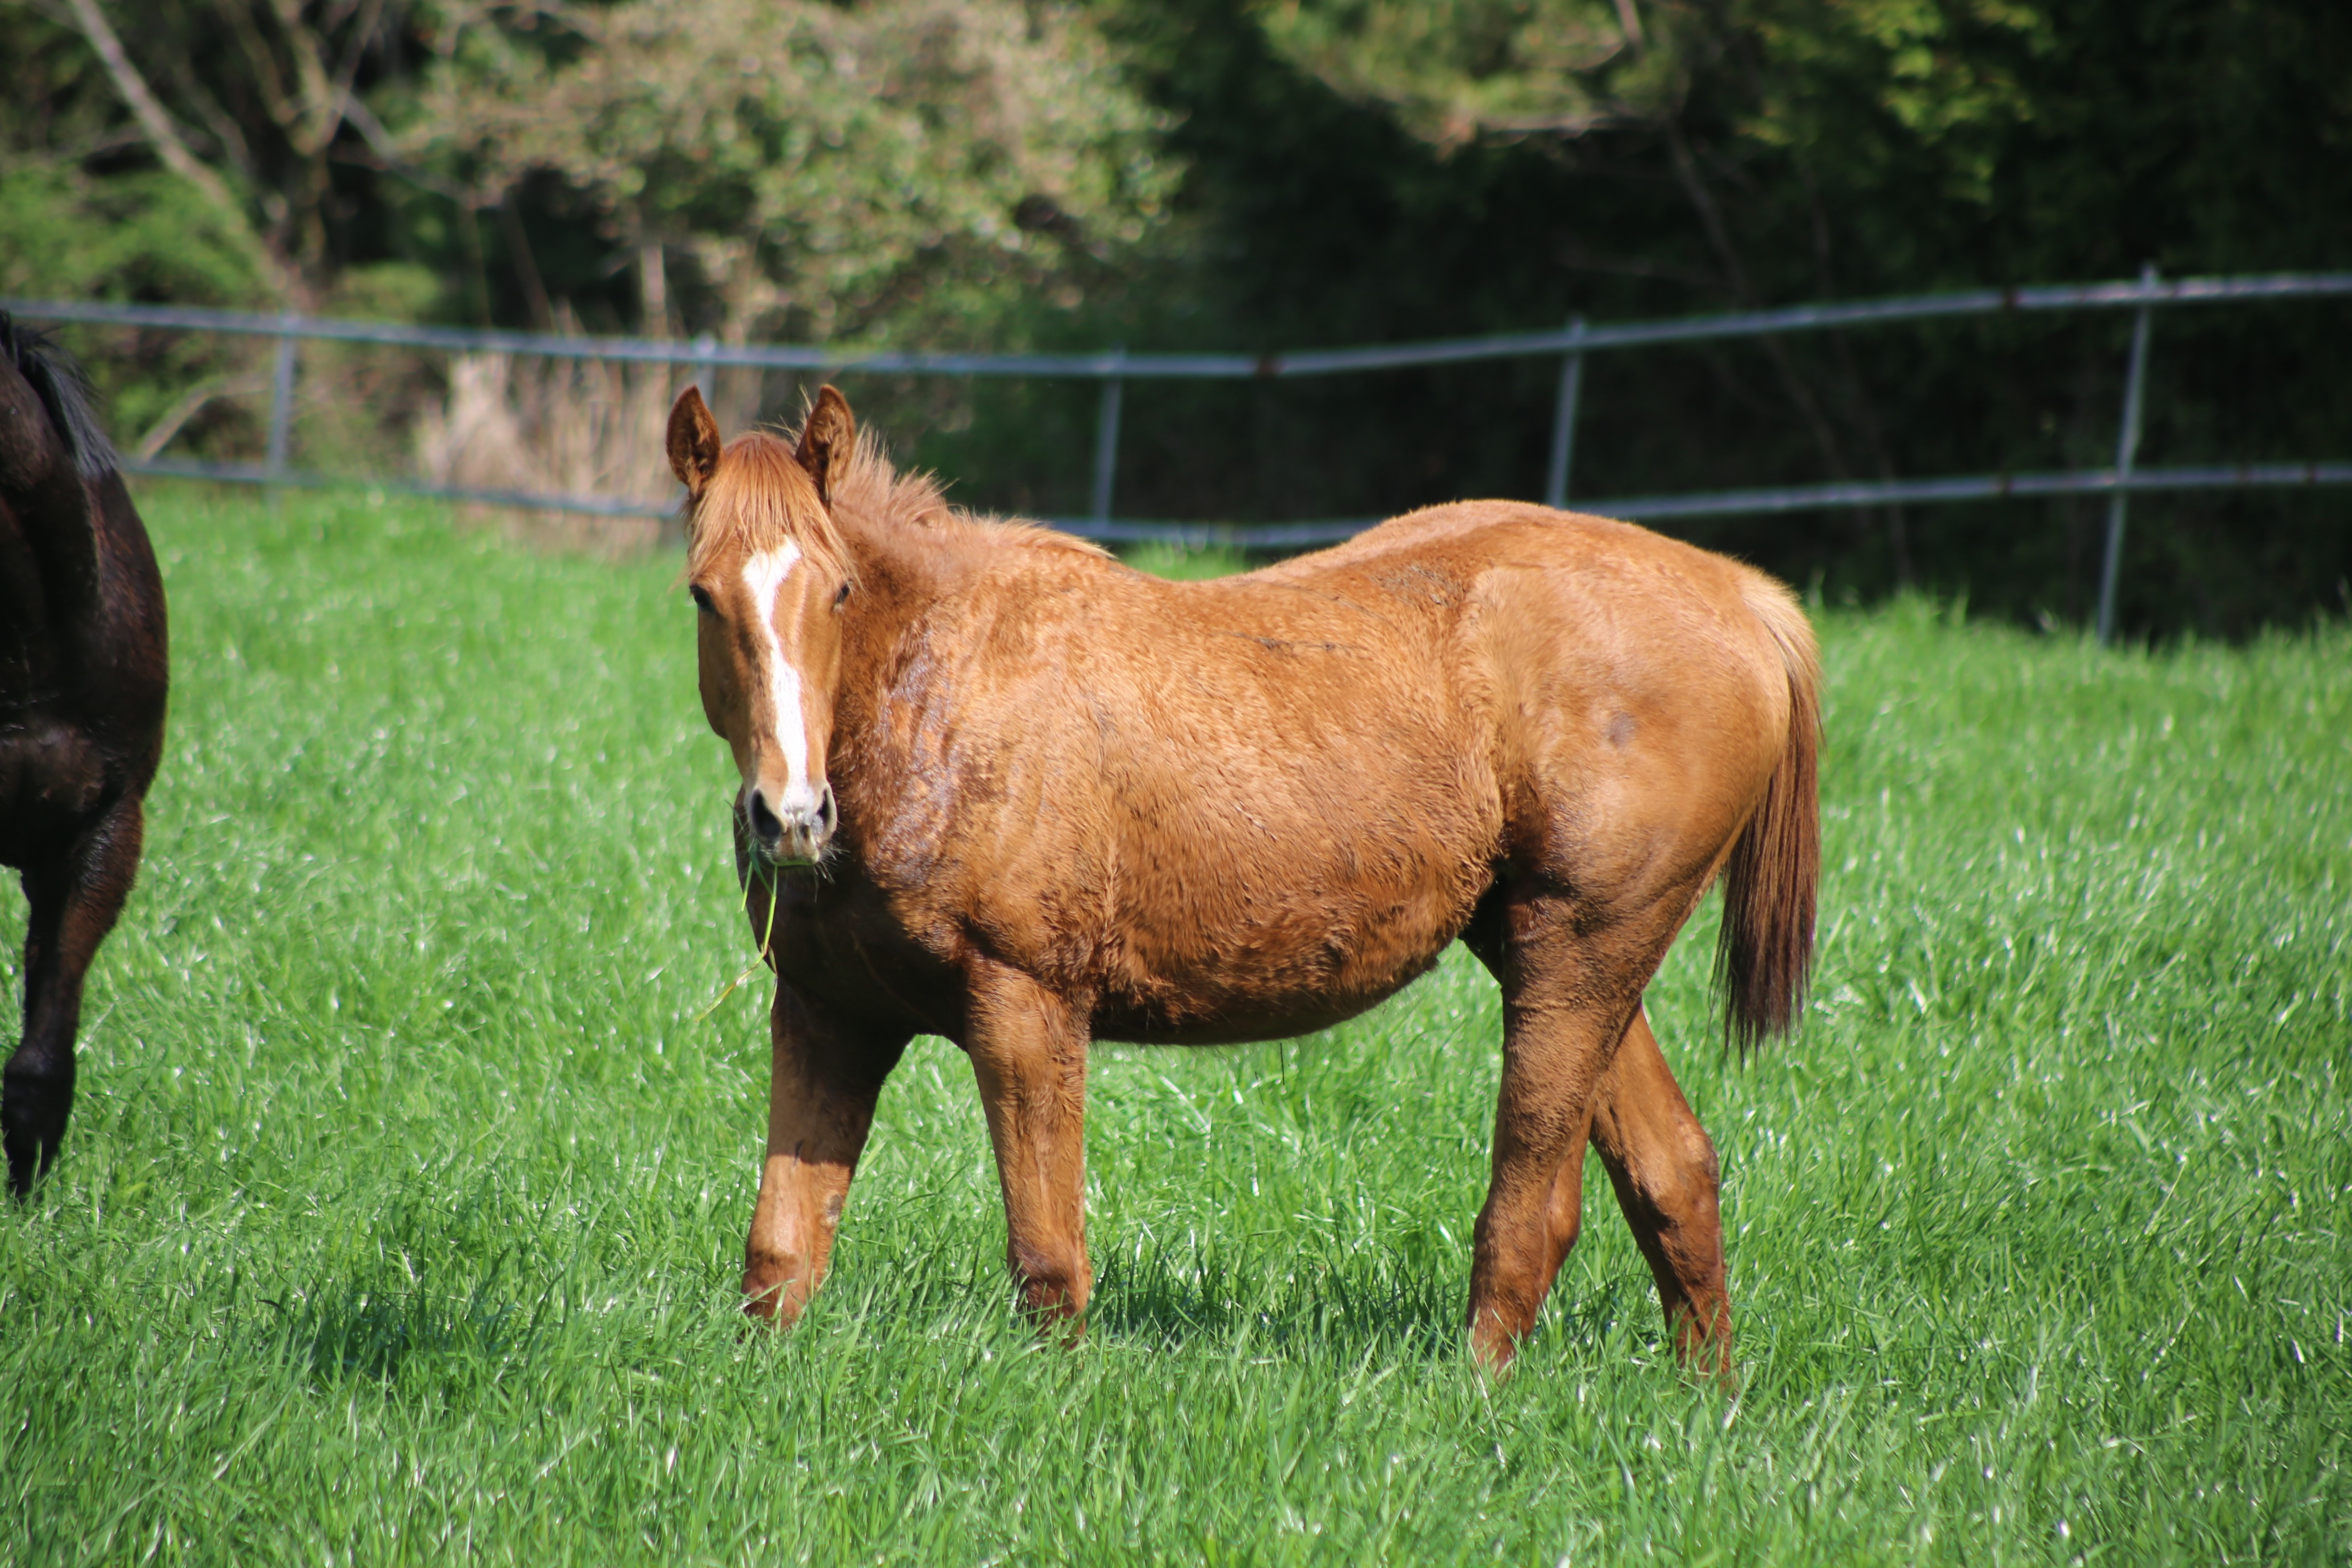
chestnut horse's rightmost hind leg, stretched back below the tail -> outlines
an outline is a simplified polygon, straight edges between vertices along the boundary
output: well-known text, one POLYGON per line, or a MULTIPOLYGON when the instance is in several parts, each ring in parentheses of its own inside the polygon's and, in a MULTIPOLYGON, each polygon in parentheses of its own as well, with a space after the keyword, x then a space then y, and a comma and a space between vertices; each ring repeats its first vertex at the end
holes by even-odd
POLYGON ((1715 1145, 1668 1072, 1644 1013, 1632 1016, 1595 1100, 1592 1147, 1658 1279, 1675 1354, 1693 1371, 1729 1378, 1731 1298, 1715 1145))

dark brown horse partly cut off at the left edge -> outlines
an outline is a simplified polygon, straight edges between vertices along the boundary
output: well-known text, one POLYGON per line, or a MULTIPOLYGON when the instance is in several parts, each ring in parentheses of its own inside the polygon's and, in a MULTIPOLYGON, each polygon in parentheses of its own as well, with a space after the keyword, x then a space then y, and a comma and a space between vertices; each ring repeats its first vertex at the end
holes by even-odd
POLYGON ((0 865, 24 877, 9 1192, 56 1159, 82 976, 139 875, 162 757, 162 578, 80 374, 0 315, 0 865))

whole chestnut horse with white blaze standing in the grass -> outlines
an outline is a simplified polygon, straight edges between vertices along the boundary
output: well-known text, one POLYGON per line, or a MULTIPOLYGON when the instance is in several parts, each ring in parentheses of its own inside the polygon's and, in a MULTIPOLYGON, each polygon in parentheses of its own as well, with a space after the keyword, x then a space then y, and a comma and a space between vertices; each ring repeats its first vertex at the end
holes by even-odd
POLYGON ((1503 987, 1470 1340, 1510 1361, 1576 1244, 1585 1145, 1684 1361, 1729 1373, 1715 1147, 1642 1016, 1724 877, 1743 1041, 1813 940, 1818 668, 1773 581, 1644 529, 1439 505, 1209 583, 953 512, 856 447, 670 411, 701 693, 776 969, 755 1316, 826 1274, 913 1034, 971 1058, 1028 1307, 1077 1316, 1087 1046, 1362 1013, 1456 936, 1503 987))

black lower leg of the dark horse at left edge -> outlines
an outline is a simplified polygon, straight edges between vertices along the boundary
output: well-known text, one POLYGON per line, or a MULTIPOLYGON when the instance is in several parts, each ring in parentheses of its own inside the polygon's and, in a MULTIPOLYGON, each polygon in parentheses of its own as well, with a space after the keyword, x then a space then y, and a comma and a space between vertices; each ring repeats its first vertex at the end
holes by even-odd
POLYGON ((24 936, 24 1039, 0 1074, 0 1140, 7 1143, 7 1185, 19 1199, 49 1168, 66 1138, 82 976, 129 898, 143 835, 139 802, 125 799, 64 853, 24 872, 24 896, 31 903, 24 936))

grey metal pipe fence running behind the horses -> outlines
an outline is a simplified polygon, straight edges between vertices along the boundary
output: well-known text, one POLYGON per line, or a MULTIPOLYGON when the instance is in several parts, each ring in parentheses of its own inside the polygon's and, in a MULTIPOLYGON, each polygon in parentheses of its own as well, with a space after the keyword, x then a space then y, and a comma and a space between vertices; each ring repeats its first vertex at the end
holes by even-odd
MULTIPOLYGON (((1726 339, 1766 339, 1776 334, 1823 331, 1839 327, 1886 327, 1898 322, 1955 320, 2004 313, 2131 310, 2131 362, 2124 376, 2124 407, 2110 468, 2058 473, 1992 473, 1936 480, 1879 480, 1837 484, 1790 484, 1776 489, 1710 491, 1689 496, 1609 496, 1583 501, 1588 510, 1630 520, 1726 517, 1757 512, 1809 512, 1863 505, 1915 505, 1950 501, 1994 501, 2006 496, 2107 496, 2107 531, 2100 557, 2098 637, 2114 635, 2114 583, 2124 552, 2126 503, 2138 491, 2204 491, 2239 487, 2317 487, 2352 484, 2352 461, 2305 463, 2213 463, 2194 468, 2140 468, 2140 416, 2147 386, 2152 322, 2159 308, 2209 306, 2279 299, 2352 296, 2352 273, 2274 273, 2263 277, 2159 277, 2154 266, 2138 280, 2049 284, 2027 289, 1964 289, 1952 294, 1917 294, 1903 299, 1795 306, 1785 310, 1748 310, 1736 315, 1691 315, 1663 322, 1588 324, 1571 320, 1557 331, 1519 331, 1484 339, 1449 339, 1435 343, 1399 343, 1381 348, 1324 348, 1284 355, 1171 355, 1124 350, 1091 355, 967 355, 922 350, 858 350, 844 346, 741 346, 713 339, 595 339, 534 331, 466 331, 454 327, 405 327, 386 322, 343 322, 303 315, 252 315, 235 310, 193 310, 169 306, 111 306, 78 301, 0 301, 35 322, 87 322, 115 327, 169 327, 186 331, 245 334, 275 339, 275 374, 270 376, 268 449, 261 463, 198 463, 188 458, 129 461, 125 468, 148 475, 181 475, 245 484, 348 484, 294 470, 287 444, 294 409, 294 374, 299 341, 388 343, 440 348, 454 353, 510 353, 550 360, 640 362, 691 369, 708 378, 720 367, 786 371, 868 371, 901 376, 1037 376, 1084 378, 1101 383, 1094 437, 1091 510, 1084 517, 1051 522, 1105 541, 1230 543, 1242 548, 1301 548, 1348 538, 1376 520, 1310 520, 1275 524, 1181 524, 1136 522, 1112 515, 1112 477, 1117 473, 1122 390, 1129 381, 1256 381, 1284 376, 1343 376, 1362 371, 1409 369, 1425 364, 1470 364, 1479 360, 1559 357, 1559 388, 1552 416, 1550 461, 1543 501, 1564 505, 1576 456, 1576 411, 1583 390, 1585 357, 1663 343, 1710 343, 1726 339)), ((656 517, 670 508, 612 496, 553 496, 510 489, 475 489, 423 484, 414 480, 372 480, 400 489, 454 501, 546 508, 567 512, 656 517)))

